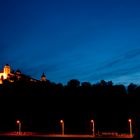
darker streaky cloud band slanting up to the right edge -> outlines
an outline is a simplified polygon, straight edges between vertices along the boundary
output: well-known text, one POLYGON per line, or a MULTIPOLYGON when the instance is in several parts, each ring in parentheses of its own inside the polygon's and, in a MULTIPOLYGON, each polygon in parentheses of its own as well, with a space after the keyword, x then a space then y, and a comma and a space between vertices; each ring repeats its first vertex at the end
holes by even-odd
POLYGON ((101 67, 94 69, 93 73, 87 74, 85 76, 87 79, 103 79, 115 77, 120 77, 124 75, 132 75, 138 73, 140 70, 140 49, 133 49, 126 52, 124 55, 118 56, 112 61, 104 64, 101 67))

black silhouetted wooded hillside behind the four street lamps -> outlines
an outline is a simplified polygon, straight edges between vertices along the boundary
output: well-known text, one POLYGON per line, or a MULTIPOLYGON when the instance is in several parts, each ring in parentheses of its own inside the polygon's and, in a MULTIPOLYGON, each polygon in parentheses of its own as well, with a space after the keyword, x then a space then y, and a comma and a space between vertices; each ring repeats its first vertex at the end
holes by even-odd
POLYGON ((59 120, 65 120, 66 133, 95 131, 129 133, 128 119, 138 135, 140 120, 140 86, 127 87, 101 80, 96 84, 72 79, 67 85, 47 81, 30 81, 26 76, 0 85, 0 131, 16 129, 23 121, 24 131, 60 133, 59 120))

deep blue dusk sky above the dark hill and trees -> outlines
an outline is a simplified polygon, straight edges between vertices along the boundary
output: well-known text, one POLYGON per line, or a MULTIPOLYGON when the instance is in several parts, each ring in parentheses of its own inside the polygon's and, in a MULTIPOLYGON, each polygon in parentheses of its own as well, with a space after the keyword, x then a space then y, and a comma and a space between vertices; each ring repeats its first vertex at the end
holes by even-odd
POLYGON ((140 0, 0 0, 0 69, 66 84, 140 83, 140 0))

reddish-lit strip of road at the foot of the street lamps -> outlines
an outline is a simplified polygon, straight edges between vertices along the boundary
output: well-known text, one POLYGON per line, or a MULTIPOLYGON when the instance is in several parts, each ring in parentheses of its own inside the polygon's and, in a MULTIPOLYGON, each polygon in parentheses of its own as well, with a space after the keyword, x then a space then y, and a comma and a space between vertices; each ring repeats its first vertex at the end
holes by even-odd
POLYGON ((133 139, 132 136, 123 134, 123 135, 100 135, 100 136, 93 136, 93 135, 76 135, 76 134, 36 134, 36 133, 24 133, 24 134, 17 134, 17 133, 4 133, 0 134, 0 140, 3 139, 13 139, 13 140, 82 140, 82 139, 133 139))

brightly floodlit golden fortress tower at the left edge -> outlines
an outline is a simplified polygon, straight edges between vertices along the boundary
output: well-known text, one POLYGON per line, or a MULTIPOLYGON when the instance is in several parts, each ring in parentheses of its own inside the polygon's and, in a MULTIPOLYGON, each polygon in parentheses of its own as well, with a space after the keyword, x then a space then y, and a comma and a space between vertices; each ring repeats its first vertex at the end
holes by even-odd
POLYGON ((6 64, 3 68, 3 71, 0 71, 0 84, 2 84, 2 80, 7 79, 10 74, 11 68, 8 64, 6 64))

